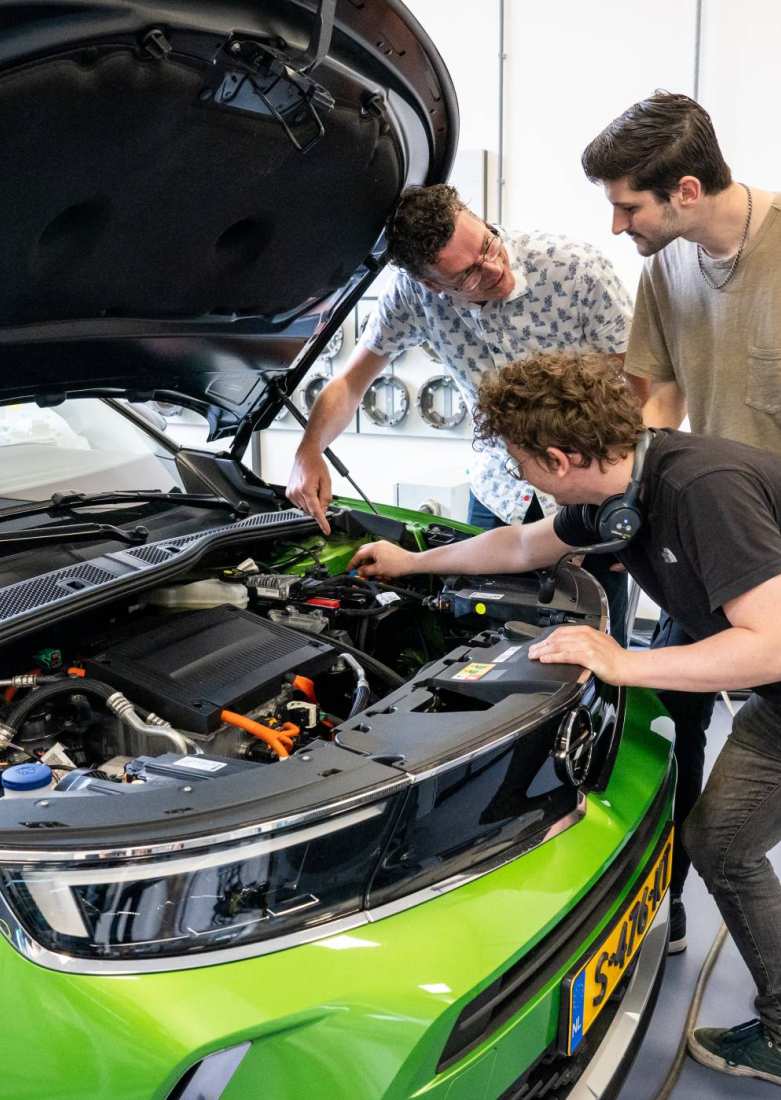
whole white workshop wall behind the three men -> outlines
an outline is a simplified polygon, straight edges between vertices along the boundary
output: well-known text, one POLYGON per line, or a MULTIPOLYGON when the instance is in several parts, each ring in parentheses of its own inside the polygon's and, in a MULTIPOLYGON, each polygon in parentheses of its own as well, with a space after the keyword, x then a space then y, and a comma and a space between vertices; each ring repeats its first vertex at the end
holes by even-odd
MULTIPOLYGON (((451 70, 461 108, 461 148, 499 151, 499 0, 408 0, 451 70)), ((630 294, 640 270, 635 246, 610 233, 601 188, 583 176, 586 143, 656 88, 694 91, 696 0, 527 0, 505 2, 503 222, 588 240, 614 262, 630 294)), ((776 136, 778 0, 703 0, 700 99, 713 114, 737 178, 781 188, 776 136)), ((488 217, 496 179, 488 177, 488 217)), ((345 346, 334 366, 343 365, 345 346)), ((409 353, 407 363, 422 370, 409 353)), ((406 370, 399 365, 399 374, 406 370)), ((429 373, 431 365, 428 365, 429 373)), ((266 432, 263 475, 286 482, 297 431, 266 432)), ((377 501, 397 481, 453 485, 472 458, 465 436, 422 438, 404 429, 337 441, 353 474, 377 501)), ((334 479, 337 492, 352 490, 334 479)))

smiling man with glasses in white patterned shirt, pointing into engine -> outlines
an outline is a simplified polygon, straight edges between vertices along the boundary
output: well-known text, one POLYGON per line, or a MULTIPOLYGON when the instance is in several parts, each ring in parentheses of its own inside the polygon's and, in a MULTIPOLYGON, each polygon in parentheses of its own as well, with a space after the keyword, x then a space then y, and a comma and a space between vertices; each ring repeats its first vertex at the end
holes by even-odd
MULTIPOLYGON (((355 415, 391 354, 429 344, 472 410, 484 374, 546 349, 623 355, 631 305, 609 262, 590 244, 487 226, 446 184, 405 191, 391 217, 398 268, 342 374, 317 399, 287 486, 294 504, 330 532, 331 479, 323 450, 355 415)), ((556 510, 506 470, 502 447, 476 454, 469 521, 491 528, 556 510)), ((585 566, 602 582, 615 636, 625 640, 626 579, 612 559, 585 566)))

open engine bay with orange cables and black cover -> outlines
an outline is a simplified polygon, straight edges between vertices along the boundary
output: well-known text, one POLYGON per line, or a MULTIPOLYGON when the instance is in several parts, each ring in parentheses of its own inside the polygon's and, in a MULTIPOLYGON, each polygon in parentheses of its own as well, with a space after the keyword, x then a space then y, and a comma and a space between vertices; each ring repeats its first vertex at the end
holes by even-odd
POLYGON ((329 746, 409 772, 490 736, 508 700, 529 711, 576 681, 526 651, 560 623, 600 626, 587 574, 564 571, 550 603, 534 574, 386 584, 345 571, 361 541, 353 519, 329 543, 268 532, 16 644, 0 681, 6 796, 182 790, 329 746), (20 766, 36 781, 14 785, 20 766))

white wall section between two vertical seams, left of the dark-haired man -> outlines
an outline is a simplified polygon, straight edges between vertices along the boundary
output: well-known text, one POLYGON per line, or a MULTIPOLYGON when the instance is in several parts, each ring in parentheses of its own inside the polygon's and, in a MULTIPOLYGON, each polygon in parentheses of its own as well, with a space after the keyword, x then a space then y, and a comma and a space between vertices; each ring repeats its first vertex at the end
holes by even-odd
POLYGON ((623 110, 694 81, 695 0, 507 0, 504 221, 591 241, 634 295, 640 260, 610 233, 584 147, 623 110))

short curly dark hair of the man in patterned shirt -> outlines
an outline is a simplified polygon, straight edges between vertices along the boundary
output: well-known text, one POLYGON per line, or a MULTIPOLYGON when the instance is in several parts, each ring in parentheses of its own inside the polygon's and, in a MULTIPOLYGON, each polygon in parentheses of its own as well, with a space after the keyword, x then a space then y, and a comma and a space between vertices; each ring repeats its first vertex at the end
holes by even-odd
POLYGON ((410 275, 426 275, 453 235, 457 216, 465 209, 448 184, 408 187, 385 227, 391 263, 410 275))

